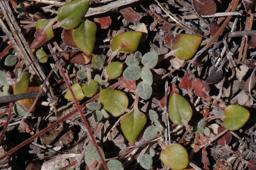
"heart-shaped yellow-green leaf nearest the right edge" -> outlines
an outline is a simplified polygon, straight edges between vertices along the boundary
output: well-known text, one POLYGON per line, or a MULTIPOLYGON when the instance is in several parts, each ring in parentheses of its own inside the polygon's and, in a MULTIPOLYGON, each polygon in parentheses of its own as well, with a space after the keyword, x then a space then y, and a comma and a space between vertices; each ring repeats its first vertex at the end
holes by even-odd
POLYGON ((224 115, 223 126, 230 130, 238 130, 250 118, 250 112, 246 108, 234 104, 227 106, 224 115))

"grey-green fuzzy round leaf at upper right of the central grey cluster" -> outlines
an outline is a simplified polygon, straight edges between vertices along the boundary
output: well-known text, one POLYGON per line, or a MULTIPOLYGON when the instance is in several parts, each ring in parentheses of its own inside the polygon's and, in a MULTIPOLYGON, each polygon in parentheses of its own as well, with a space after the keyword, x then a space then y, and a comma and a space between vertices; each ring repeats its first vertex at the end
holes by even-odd
POLYGON ((141 59, 141 63, 147 68, 154 68, 157 62, 158 54, 156 52, 147 52, 141 59))

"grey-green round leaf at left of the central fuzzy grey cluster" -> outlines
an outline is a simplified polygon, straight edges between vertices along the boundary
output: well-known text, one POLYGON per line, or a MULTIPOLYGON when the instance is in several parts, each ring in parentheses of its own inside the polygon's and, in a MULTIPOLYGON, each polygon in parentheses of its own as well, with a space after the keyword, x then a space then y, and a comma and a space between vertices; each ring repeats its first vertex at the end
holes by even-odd
POLYGON ((139 80, 141 78, 141 68, 138 65, 128 66, 123 73, 126 80, 139 80))

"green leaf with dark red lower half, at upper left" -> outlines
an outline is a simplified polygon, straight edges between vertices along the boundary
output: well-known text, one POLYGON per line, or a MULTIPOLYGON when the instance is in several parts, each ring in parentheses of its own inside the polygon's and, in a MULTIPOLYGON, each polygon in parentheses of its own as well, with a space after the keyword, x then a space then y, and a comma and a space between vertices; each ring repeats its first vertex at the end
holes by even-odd
POLYGON ((30 45, 31 49, 41 47, 45 42, 54 37, 53 22, 51 19, 39 19, 35 24, 35 39, 30 45))

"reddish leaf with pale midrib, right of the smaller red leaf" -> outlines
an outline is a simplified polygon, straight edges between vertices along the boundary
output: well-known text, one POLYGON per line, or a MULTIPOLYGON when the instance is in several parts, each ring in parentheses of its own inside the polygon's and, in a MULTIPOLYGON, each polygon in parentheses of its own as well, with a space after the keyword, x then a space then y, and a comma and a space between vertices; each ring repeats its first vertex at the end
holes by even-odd
POLYGON ((192 87, 195 95, 198 97, 206 97, 209 95, 210 85, 199 78, 192 79, 192 87))

